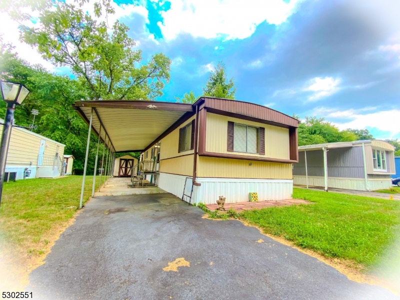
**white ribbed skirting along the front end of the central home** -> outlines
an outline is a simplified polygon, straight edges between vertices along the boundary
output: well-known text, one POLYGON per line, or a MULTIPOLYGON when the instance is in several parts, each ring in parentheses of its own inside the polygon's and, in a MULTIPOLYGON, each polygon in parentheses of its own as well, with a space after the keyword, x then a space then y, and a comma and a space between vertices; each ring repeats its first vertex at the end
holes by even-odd
MULTIPOLYGON (((216 203, 218 196, 226 203, 248 201, 249 192, 257 192, 259 200, 290 199, 293 192, 291 179, 197 178, 201 186, 193 189, 192 202, 216 203)), ((182 188, 183 190, 183 188, 182 188)))

